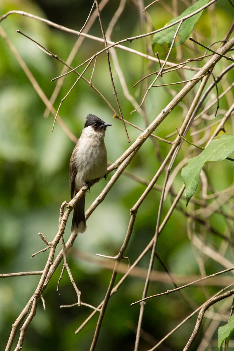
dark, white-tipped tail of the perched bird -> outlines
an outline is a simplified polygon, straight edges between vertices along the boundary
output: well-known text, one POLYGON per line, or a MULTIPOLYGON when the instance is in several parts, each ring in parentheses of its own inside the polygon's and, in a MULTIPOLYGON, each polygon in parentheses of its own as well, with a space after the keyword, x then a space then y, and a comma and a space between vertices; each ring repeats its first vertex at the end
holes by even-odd
POLYGON ((77 201, 72 217, 72 233, 78 234, 86 231, 85 222, 85 194, 77 201))

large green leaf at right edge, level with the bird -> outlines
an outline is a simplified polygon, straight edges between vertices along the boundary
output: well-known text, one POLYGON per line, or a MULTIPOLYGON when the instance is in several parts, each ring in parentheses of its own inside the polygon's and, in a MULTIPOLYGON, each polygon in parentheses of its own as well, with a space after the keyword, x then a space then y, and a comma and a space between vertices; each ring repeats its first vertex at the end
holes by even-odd
POLYGON ((234 136, 219 135, 214 138, 200 155, 190 158, 188 165, 181 170, 185 183, 186 206, 193 196, 200 178, 203 165, 208 161, 222 161, 234 152, 234 136))

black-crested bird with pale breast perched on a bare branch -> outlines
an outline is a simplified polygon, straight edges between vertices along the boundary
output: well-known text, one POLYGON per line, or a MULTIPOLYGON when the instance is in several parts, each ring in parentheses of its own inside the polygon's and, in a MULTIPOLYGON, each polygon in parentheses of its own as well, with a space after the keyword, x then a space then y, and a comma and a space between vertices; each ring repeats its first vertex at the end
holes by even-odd
MULTIPOLYGON (((74 147, 69 164, 69 185, 71 198, 93 181, 107 176, 107 151, 104 143, 106 128, 111 126, 94 114, 88 114, 80 139, 74 147)), ((76 202, 72 218, 72 233, 86 231, 85 193, 76 202)))

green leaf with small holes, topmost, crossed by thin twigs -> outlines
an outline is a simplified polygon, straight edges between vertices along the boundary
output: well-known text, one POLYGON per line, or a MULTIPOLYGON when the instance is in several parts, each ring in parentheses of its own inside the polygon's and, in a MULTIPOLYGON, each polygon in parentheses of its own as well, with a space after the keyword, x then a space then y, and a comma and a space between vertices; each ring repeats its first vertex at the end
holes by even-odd
MULTIPOLYGON (((173 18, 166 25, 172 24, 173 22, 180 20, 182 17, 185 17, 185 16, 189 15, 190 13, 197 11, 202 6, 208 4, 208 2, 209 2, 209 0, 199 0, 199 1, 195 2, 194 5, 188 7, 180 16, 173 18)), ((199 20, 202 12, 203 11, 200 11, 199 13, 195 14, 194 16, 189 17, 187 20, 183 21, 183 23, 179 29, 178 35, 177 35, 177 38, 179 38, 179 41, 176 41, 174 43, 174 47, 183 44, 183 42, 185 42, 185 40, 188 39, 190 33, 194 29, 196 22, 199 20)), ((159 33, 155 33, 153 36, 153 39, 152 39, 152 49, 154 49, 154 46, 156 44, 162 45, 164 42, 168 45, 168 47, 170 47, 172 45, 172 40, 173 40, 173 37, 175 35, 175 32, 176 32, 178 25, 179 25, 179 23, 170 27, 170 28, 165 29, 164 31, 161 31, 159 33)))

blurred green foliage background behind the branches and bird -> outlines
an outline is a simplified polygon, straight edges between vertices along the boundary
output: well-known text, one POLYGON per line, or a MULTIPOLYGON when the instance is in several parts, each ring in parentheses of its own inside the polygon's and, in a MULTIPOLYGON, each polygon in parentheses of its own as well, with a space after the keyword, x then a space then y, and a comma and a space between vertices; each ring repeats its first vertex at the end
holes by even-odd
MULTIPOLYGON (((90 4, 86 1, 69 1, 68 3, 69 5, 59 1, 52 4, 43 1, 3 0, 0 3, 0 15, 13 9, 20 10, 42 17, 47 16, 49 20, 79 30, 87 18, 90 4)), ((213 35, 210 28, 218 33, 217 40, 222 39, 227 31, 233 18, 233 8, 229 8, 227 4, 226 1, 218 1, 215 5, 213 9, 215 27, 212 26, 210 12, 204 11, 201 16, 197 30, 203 33, 208 43, 213 35)), ((169 1, 168 6, 171 6, 169 1)), ((117 7, 118 2, 110 1, 103 10, 102 18, 105 26, 117 7)), ((184 10, 185 6, 180 3, 180 13, 184 10)), ((157 13, 154 7, 150 8, 149 15, 155 28, 164 26, 172 19, 172 16, 162 7, 158 7, 157 13)), ((17 34, 16 29, 30 35, 63 60, 68 57, 77 38, 18 15, 9 16, 1 25, 38 80, 42 90, 50 98, 55 87, 51 79, 60 74, 62 64, 42 52, 33 42, 17 34)), ((98 21, 95 22, 90 34, 101 37, 98 21)), ((120 24, 113 33, 112 40, 118 41, 139 34, 141 34, 139 14, 134 2, 129 1, 121 16, 120 24)), ((151 45, 150 38, 144 40, 151 45)), ((139 51, 142 49, 140 40, 127 45, 139 51)), ((73 61, 73 67, 87 57, 91 57, 101 48, 102 46, 94 41, 84 41, 73 61)), ((165 59, 166 46, 157 47, 156 50, 159 51, 160 57, 165 59)), ((42 270, 47 253, 40 253, 32 259, 30 257, 44 248, 38 232, 42 232, 48 240, 52 240, 58 229, 60 206, 64 200, 69 200, 68 168, 74 143, 58 123, 52 133, 53 117, 51 115, 48 118, 43 117, 45 105, 2 38, 0 38, 0 52, 0 270, 1 273, 42 270)), ((176 59, 176 54, 173 49, 172 58, 176 59)), ((192 55, 191 50, 186 48, 184 55, 185 58, 189 58, 192 55)), ((120 52, 119 60, 128 87, 132 87, 145 72, 146 62, 142 58, 123 52, 120 52)), ((222 63, 220 63, 220 70, 221 65, 222 63)), ((91 73, 92 68, 90 67, 85 74, 87 79, 91 73)), ((190 73, 186 72, 186 74, 189 79, 190 73)), ((232 72, 230 80, 233 80, 233 75, 232 72)), ((75 79, 76 76, 72 74, 67 76, 59 97, 56 99, 55 108, 58 108, 60 100, 66 95, 75 79)), ((174 72, 170 77, 166 75, 163 83, 179 79, 178 74, 174 72)), ((145 121, 138 112, 130 114, 133 106, 125 99, 116 74, 114 74, 114 80, 124 118, 145 128, 145 121)), ((95 69, 93 84, 113 106, 116 106, 105 53, 98 58, 98 68, 95 69)), ((227 84, 229 84, 228 81, 224 83, 224 86, 227 84)), ((153 90, 148 94, 144 108, 147 111, 149 123, 179 89, 178 86, 173 87, 172 90, 161 88, 160 93, 158 93, 159 90, 157 92, 153 90)), ((138 101, 141 101, 140 86, 130 92, 135 94, 138 101)), ((195 91, 191 93, 193 95, 191 100, 194 94, 195 91)), ((232 94, 229 95, 229 99, 232 99, 232 94)), ((227 109, 228 99, 225 98, 220 101, 220 111, 227 109)), ((181 102, 179 107, 172 111, 169 119, 160 125, 156 134, 165 138, 166 135, 174 132, 175 127, 181 125, 185 117, 185 110, 184 102, 181 102)), ((110 163, 113 163, 128 148, 121 121, 112 119, 113 113, 107 105, 82 80, 63 102, 59 113, 65 124, 77 137, 80 135, 88 113, 94 113, 106 122, 111 122, 112 127, 107 130, 105 139, 110 163)), ((220 114, 218 113, 217 118, 221 118, 220 114)), ((233 134, 231 122, 226 125, 227 134, 233 134)), ((130 140, 134 141, 140 132, 129 126, 127 129, 130 140)), ((127 171, 151 180, 168 150, 168 144, 159 141, 155 146, 155 142, 148 139, 127 171)), ((185 146, 176 164, 187 155, 188 146, 185 146)), ((233 165, 227 161, 225 166, 223 165, 224 163, 217 163, 215 166, 207 166, 210 184, 218 190, 225 189, 233 182, 233 165), (219 174, 218 179, 215 176, 217 173, 219 174)), ((111 177, 111 174, 108 177, 111 177)), ((160 177, 158 184, 162 185, 163 180, 163 177, 160 177)), ((176 175, 173 184, 175 191, 182 186, 180 173, 176 175)), ((91 193, 86 197, 86 208, 105 185, 105 180, 102 179, 92 187, 91 193)), ((144 190, 145 185, 123 175, 105 201, 88 219, 87 231, 78 236, 74 250, 68 254, 69 266, 82 292, 83 302, 97 306, 105 296, 111 271, 99 265, 98 259, 95 259, 95 253, 114 256, 119 251, 127 230, 129 211, 144 190), (85 253, 87 257, 81 258, 80 252, 85 253), (91 261, 91 257, 95 260, 94 262, 91 261)), ((134 262, 154 235, 159 200, 158 191, 150 192, 138 211, 131 242, 125 254, 129 257, 130 263, 134 262)), ((173 198, 169 195, 163 205, 163 215, 167 213, 172 200, 173 198)), ((170 272, 189 276, 200 274, 200 270, 196 254, 187 236, 187 219, 183 215, 185 206, 186 202, 183 198, 182 210, 180 208, 175 210, 160 236, 157 253, 170 272)), ((217 216, 213 218, 213 226, 223 232, 225 223, 217 216)), ((66 227, 65 239, 70 234, 69 230, 70 223, 66 227)), ((210 239, 214 247, 219 247, 220 240, 215 236, 210 239)), ((148 253, 140 262, 139 267, 147 269, 149 257, 148 253)), ((227 258, 233 259, 231 250, 227 250, 227 258)), ((28 328, 24 341, 26 351, 83 351, 89 349, 97 318, 93 318, 79 335, 75 335, 74 331, 88 317, 90 310, 84 306, 79 309, 78 307, 59 308, 60 305, 68 305, 76 301, 75 291, 66 272, 60 283, 60 292, 56 291, 61 268, 62 265, 54 274, 44 293, 46 311, 43 310, 42 303, 40 303, 36 316, 28 328)), ((154 269, 163 271, 158 261, 154 269)), ((221 269, 222 266, 211 259, 206 261, 206 274, 221 269)), ((119 274, 120 276, 122 275, 119 274)), ((34 292, 38 280, 39 276, 0 280, 0 349, 6 346, 12 324, 34 292)), ((128 306, 141 298, 143 287, 144 279, 131 277, 112 297, 103 320, 103 328, 96 350, 133 350, 139 306, 128 306)), ((172 287, 171 283, 151 283, 148 295, 160 293, 172 287)), ((190 299, 190 296, 193 296, 191 299, 194 305, 198 306, 205 301, 206 294, 215 293, 220 286, 189 289, 186 292, 186 298, 190 299)), ((156 340, 160 340, 191 311, 191 307, 184 302, 179 293, 149 300, 143 319, 143 329, 147 331, 147 334, 142 338, 141 349, 152 347, 156 340)), ((169 350, 181 350, 193 330, 195 320, 196 317, 190 319, 186 326, 182 326, 167 340, 164 346, 166 350, 168 348, 169 350)), ((198 341, 193 345, 194 350, 196 343, 198 341)))

